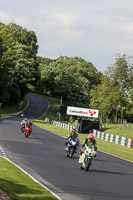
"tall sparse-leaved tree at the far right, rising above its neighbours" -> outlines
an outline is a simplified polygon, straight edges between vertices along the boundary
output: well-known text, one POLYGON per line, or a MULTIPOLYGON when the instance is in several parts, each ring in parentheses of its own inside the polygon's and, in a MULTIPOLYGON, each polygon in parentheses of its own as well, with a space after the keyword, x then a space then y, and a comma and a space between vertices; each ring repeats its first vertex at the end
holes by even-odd
MULTIPOLYGON (((132 63, 130 58, 126 55, 116 57, 116 62, 106 72, 110 79, 110 84, 113 90, 119 95, 118 100, 115 101, 115 107, 119 104, 120 107, 125 107, 127 98, 131 91, 132 80, 132 63)), ((116 96, 116 95, 115 95, 116 96)))

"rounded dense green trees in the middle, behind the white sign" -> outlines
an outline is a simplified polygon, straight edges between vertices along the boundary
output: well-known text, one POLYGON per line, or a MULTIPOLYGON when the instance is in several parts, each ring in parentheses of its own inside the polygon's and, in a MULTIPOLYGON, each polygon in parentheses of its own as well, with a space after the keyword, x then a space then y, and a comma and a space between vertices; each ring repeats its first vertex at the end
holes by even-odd
MULTIPOLYGON (((41 59, 39 59, 41 60, 41 59)), ((82 58, 42 59, 38 89, 63 98, 63 104, 89 107, 90 90, 100 82, 101 73, 82 58)))

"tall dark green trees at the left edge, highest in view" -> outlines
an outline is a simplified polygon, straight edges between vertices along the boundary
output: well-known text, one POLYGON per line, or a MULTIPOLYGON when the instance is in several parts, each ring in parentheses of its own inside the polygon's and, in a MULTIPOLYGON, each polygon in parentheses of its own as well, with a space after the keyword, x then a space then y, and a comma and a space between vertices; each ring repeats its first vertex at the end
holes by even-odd
POLYGON ((0 102, 18 103, 37 76, 37 39, 33 31, 0 23, 0 102))

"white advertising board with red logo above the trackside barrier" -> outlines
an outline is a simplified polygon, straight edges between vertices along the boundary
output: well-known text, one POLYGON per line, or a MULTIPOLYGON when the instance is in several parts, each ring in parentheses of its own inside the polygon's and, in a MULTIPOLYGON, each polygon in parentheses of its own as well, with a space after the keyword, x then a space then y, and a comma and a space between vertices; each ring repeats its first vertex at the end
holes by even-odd
POLYGON ((98 118, 99 110, 67 106, 67 115, 98 118))

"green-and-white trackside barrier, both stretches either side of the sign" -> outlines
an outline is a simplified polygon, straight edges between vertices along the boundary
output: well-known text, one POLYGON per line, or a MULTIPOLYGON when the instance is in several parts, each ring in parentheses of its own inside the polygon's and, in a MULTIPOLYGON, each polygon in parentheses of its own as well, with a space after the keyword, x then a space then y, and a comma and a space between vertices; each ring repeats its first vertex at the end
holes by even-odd
MULTIPOLYGON (((55 121, 52 120, 50 121, 48 118, 46 118, 45 122, 47 123, 52 123, 55 126, 67 129, 67 130, 72 130, 73 128, 76 128, 75 126, 71 126, 69 124, 60 122, 60 121, 55 121)), ((119 135, 114 135, 114 134, 109 134, 109 133, 104 133, 104 132, 100 132, 98 130, 93 129, 93 134, 95 137, 101 139, 101 140, 105 140, 108 142, 114 142, 116 144, 120 144, 122 146, 125 146, 127 148, 133 148, 133 140, 130 138, 126 138, 123 136, 119 136, 119 135)))

